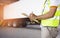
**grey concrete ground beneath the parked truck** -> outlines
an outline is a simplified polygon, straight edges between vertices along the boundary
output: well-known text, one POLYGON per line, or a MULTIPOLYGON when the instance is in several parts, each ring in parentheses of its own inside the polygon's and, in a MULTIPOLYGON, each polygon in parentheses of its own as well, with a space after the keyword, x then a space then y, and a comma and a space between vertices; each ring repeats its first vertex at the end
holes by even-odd
MULTIPOLYGON (((28 25, 27 27, 29 28, 0 28, 0 38, 40 38, 39 25, 28 25)), ((60 28, 58 30, 60 30, 60 28)), ((60 38, 60 32, 57 38, 60 38)))

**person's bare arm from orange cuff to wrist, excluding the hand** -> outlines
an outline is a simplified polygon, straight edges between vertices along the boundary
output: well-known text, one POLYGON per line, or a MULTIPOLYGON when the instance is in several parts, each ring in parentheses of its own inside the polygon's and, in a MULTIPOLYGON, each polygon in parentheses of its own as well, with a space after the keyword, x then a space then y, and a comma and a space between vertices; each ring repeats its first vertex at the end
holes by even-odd
POLYGON ((48 18, 52 18, 54 17, 55 13, 57 10, 57 6, 51 6, 50 7, 50 11, 46 14, 40 15, 40 16, 36 16, 36 19, 48 19, 48 18))

